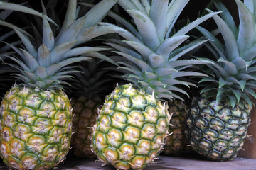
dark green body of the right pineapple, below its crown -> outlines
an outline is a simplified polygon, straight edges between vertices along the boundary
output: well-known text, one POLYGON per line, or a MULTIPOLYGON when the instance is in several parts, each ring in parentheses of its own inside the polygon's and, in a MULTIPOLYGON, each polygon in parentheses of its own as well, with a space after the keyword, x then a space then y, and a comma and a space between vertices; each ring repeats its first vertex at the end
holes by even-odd
POLYGON ((247 137, 251 107, 240 101, 232 108, 228 100, 216 103, 207 95, 193 99, 185 135, 198 154, 214 161, 232 160, 247 137))

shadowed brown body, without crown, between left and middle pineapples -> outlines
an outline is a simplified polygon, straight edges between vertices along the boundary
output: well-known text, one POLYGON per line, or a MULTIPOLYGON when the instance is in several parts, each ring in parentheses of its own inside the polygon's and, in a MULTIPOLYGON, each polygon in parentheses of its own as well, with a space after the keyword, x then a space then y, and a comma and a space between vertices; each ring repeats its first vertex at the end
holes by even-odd
POLYGON ((73 109, 73 135, 71 140, 72 153, 75 157, 95 158, 92 152, 92 127, 96 123, 97 110, 100 109, 100 97, 80 98, 71 101, 73 109))

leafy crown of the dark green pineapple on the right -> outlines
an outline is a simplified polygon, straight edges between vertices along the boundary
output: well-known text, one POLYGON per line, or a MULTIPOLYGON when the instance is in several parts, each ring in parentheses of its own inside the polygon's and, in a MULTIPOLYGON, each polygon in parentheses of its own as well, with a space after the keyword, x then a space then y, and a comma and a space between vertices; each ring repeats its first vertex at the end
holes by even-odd
POLYGON ((209 32, 205 28, 197 27, 209 40, 206 47, 215 57, 215 60, 208 59, 214 64, 208 65, 210 77, 201 79, 200 83, 205 86, 201 93, 213 91, 216 101, 227 98, 233 107, 241 98, 252 106, 251 96, 256 97, 256 1, 245 0, 242 3, 235 0, 239 12, 239 26, 235 25, 233 16, 220 0, 215 0, 214 3, 218 11, 223 11, 221 17, 213 16, 218 29, 209 32), (224 44, 216 38, 218 33, 221 33, 224 44))

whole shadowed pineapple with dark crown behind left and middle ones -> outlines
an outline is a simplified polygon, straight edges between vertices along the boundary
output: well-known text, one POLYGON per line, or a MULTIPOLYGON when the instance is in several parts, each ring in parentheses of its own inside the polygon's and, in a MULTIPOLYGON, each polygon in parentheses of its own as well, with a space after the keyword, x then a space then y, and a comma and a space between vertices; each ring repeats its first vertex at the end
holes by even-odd
POLYGON ((91 151, 92 126, 96 123, 97 110, 101 108, 111 84, 108 76, 110 64, 102 60, 82 62, 82 73, 73 80, 73 136, 72 151, 76 157, 95 158, 91 151))

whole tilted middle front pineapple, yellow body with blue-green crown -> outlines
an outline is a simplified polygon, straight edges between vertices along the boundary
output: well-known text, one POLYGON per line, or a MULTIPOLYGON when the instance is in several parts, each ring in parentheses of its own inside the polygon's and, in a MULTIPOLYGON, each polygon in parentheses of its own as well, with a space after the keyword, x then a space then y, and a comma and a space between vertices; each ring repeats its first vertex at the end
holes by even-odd
POLYGON ((117 87, 105 98, 92 132, 92 150, 105 164, 116 169, 143 169, 154 161, 169 135, 171 115, 165 100, 178 98, 186 91, 176 85, 193 86, 184 77, 206 74, 186 71, 203 60, 178 60, 207 40, 198 40, 178 48, 187 40, 189 30, 217 13, 210 13, 174 32, 173 26, 188 1, 126 1, 119 0, 132 17, 134 25, 124 20, 121 12, 108 13, 126 29, 100 23, 121 35, 122 39, 107 40, 114 48, 130 84, 117 87), (134 27, 135 26, 135 27, 134 27), (184 78, 184 79, 182 79, 184 78))

